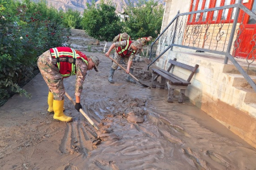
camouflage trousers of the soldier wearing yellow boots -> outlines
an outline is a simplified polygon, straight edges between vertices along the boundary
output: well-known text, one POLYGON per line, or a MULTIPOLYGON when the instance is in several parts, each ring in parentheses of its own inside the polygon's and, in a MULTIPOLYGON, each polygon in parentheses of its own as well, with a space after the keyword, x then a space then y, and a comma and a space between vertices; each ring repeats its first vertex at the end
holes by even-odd
POLYGON ((54 100, 63 100, 65 94, 63 77, 59 73, 59 69, 52 62, 50 50, 39 56, 37 65, 44 81, 46 81, 49 87, 49 91, 53 94, 54 100))

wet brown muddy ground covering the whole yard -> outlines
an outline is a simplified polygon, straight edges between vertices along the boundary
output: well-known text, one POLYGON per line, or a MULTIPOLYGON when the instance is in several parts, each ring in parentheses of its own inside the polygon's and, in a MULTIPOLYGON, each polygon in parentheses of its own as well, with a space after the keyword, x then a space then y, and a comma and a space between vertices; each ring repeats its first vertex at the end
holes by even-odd
MULTIPOLYGON (((122 70, 107 81, 111 60, 104 42, 72 30, 71 47, 101 60, 99 72, 88 71, 81 103, 101 128, 97 130, 65 99, 73 122, 47 113, 48 88, 38 74, 25 89, 31 99, 13 96, 0 108, 0 169, 256 169, 256 150, 185 100, 166 101, 167 89, 126 82, 122 70)), ((108 47, 111 43, 108 43, 108 47)), ((134 63, 145 82, 147 64, 134 63)), ((75 76, 64 79, 75 99, 75 76)))

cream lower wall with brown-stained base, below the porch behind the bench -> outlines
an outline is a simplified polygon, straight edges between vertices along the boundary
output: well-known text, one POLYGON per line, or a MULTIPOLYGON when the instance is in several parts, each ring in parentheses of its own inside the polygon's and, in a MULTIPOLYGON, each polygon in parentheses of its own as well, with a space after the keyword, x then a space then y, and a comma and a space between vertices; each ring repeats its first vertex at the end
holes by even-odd
MULTIPOLYGON (((174 58, 184 64, 198 64, 198 70, 190 81, 192 84, 186 89, 185 96, 195 106, 256 148, 256 109, 248 110, 244 102, 247 93, 241 93, 239 88, 234 87, 234 79, 225 73, 231 71, 233 68, 230 66, 233 65, 223 64, 224 57, 205 54, 199 56, 195 52, 180 50, 182 52, 169 51, 155 65, 168 69, 168 60, 174 58)), ((173 74, 187 79, 190 71, 174 66, 173 74)))

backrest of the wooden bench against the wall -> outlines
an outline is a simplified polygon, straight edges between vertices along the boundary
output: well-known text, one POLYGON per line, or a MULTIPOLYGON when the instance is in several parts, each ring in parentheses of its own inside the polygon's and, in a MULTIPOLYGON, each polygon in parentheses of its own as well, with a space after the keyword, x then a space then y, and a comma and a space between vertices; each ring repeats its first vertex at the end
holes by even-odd
POLYGON ((186 81, 190 82, 192 77, 194 76, 195 72, 197 71, 199 65, 196 64, 195 67, 191 66, 191 65, 187 65, 187 64, 183 64, 181 62, 178 62, 176 58, 174 58, 173 60, 170 59, 168 61, 171 65, 169 66, 169 68, 167 69, 167 71, 171 71, 171 68, 174 67, 174 65, 178 66, 178 67, 181 67, 183 69, 186 69, 188 71, 191 71, 191 74, 190 76, 188 77, 188 79, 186 81))

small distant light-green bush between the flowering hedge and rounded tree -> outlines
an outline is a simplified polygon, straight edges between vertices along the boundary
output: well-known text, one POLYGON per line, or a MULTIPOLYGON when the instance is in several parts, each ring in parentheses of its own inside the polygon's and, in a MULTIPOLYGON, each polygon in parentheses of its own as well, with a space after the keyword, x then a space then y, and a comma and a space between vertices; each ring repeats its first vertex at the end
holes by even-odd
POLYGON ((81 21, 82 16, 80 16, 79 11, 73 11, 72 9, 68 9, 66 13, 63 13, 63 25, 66 28, 82 29, 81 21))

